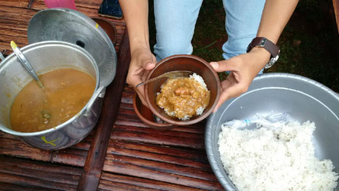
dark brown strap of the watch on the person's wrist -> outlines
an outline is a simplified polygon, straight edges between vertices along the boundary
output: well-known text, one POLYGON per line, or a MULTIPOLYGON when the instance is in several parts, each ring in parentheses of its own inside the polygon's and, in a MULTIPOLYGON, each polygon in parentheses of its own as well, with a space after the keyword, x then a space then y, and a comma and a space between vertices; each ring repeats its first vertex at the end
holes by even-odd
POLYGON ((279 47, 265 37, 253 38, 252 42, 248 45, 246 52, 250 52, 253 47, 263 47, 271 54, 272 58, 277 57, 280 52, 279 47))

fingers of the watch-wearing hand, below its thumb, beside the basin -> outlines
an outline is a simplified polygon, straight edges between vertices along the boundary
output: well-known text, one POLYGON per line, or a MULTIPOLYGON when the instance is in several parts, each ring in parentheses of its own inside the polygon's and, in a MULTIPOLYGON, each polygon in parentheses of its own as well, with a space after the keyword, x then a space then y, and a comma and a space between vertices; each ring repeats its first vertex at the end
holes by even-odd
POLYGON ((220 98, 217 106, 213 110, 213 112, 217 111, 217 109, 228 99, 240 96, 242 93, 247 91, 246 86, 243 84, 233 84, 229 87, 222 87, 223 91, 220 94, 220 98))

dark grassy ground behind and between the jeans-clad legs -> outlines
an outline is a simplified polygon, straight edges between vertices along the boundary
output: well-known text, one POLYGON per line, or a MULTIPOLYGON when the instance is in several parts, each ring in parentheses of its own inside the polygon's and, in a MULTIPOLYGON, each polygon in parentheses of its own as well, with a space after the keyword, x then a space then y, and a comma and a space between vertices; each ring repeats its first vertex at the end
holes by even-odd
MULTIPOLYGON (((333 9, 331 2, 299 2, 278 41, 280 58, 265 73, 282 72, 305 76, 339 92, 339 35, 334 15, 330 14, 333 9)), ((149 7, 150 45, 153 49, 156 43, 153 1, 150 1, 149 7)), ((193 55, 207 62, 222 60, 221 46, 226 40, 222 1, 204 1, 192 39, 193 55)), ((219 76, 221 80, 226 77, 223 73, 219 76)))

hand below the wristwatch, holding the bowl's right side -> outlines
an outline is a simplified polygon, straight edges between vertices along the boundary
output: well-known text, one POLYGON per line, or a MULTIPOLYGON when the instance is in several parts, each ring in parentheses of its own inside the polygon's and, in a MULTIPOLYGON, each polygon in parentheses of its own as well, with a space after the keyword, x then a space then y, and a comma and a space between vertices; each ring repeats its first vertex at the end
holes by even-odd
POLYGON ((230 71, 226 80, 221 82, 221 94, 213 112, 228 99, 245 93, 254 77, 268 63, 270 53, 263 48, 253 48, 251 52, 232 57, 228 60, 211 62, 217 72, 230 71))

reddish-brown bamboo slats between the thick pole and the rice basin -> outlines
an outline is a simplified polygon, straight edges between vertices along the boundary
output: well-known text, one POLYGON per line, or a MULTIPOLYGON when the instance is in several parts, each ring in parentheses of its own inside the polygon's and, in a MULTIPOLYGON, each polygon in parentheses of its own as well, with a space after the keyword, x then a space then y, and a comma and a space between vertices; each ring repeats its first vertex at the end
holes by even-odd
POLYGON ((205 153, 205 122, 169 131, 151 129, 133 109, 134 93, 125 85, 99 189, 222 190, 205 153))

